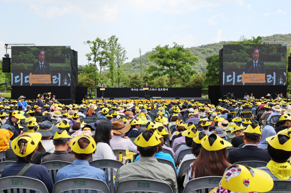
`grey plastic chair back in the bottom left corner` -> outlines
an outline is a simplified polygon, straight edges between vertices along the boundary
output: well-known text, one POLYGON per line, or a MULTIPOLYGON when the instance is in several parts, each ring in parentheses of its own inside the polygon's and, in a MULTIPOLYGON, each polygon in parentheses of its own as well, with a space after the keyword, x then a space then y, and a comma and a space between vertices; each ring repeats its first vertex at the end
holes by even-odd
POLYGON ((48 193, 48 189, 45 184, 37 179, 24 177, 24 176, 9 176, 0 179, 0 192, 4 191, 10 193, 11 189, 13 192, 23 192, 23 189, 26 189, 26 192, 30 192, 30 190, 34 190, 35 193, 48 193))

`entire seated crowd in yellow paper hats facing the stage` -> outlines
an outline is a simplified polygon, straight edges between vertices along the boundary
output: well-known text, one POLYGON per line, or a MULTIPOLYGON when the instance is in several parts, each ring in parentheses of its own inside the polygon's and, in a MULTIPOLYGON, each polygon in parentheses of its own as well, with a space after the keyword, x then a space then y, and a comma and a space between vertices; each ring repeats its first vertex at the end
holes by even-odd
MULTIPOLYGON (((264 162, 266 166, 257 169, 271 179, 291 180, 291 173, 278 174, 281 168, 291 169, 291 100, 219 99, 214 106, 194 99, 102 99, 65 105, 57 100, 42 101, 40 96, 26 101, 20 96, 0 104, 0 152, 5 151, 5 161, 16 161, 4 168, 1 178, 20 173, 42 181, 51 193, 54 183, 68 178, 107 183, 105 172, 89 162, 109 159, 124 164, 108 173, 114 176, 114 190, 124 180, 151 179, 169 184, 176 193, 192 179, 242 171, 244 166, 236 163, 243 161, 264 162), (239 114, 240 108, 250 116, 239 114), (227 151, 230 147, 236 149, 227 151), (181 156, 187 149, 189 154, 181 156), (120 157, 115 150, 126 150, 126 157, 133 155, 133 159, 120 157), (159 163, 159 159, 173 166, 159 163), (193 162, 181 181, 178 174, 186 160, 193 162), (40 165, 49 161, 72 164, 58 170, 53 183, 48 170, 40 165)), ((225 189, 243 192, 232 186, 225 189)))

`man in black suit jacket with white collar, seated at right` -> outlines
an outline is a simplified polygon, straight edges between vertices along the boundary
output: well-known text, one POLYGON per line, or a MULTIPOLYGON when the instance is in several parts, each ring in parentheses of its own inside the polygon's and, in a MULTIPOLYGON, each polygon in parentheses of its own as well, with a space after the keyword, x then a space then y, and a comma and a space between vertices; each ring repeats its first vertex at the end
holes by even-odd
MULTIPOLYGON (((257 124, 251 123, 250 125, 256 127, 257 124)), ((243 141, 245 145, 242 148, 229 151, 227 156, 229 163, 233 164, 241 161, 264 161, 268 163, 271 160, 268 151, 257 147, 260 140, 261 134, 244 132, 243 141)))

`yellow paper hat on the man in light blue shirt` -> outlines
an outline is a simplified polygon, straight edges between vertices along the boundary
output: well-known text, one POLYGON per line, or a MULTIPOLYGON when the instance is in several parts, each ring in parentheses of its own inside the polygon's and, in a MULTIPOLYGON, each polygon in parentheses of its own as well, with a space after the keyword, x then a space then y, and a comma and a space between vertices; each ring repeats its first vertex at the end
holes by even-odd
POLYGON ((71 145, 72 151, 76 152, 76 153, 90 154, 96 150, 95 140, 87 133, 82 134, 82 135, 78 135, 77 137, 74 137, 71 140, 70 145, 71 145), (81 149, 79 144, 78 144, 78 140, 83 138, 83 137, 90 141, 89 145, 85 149, 81 149))

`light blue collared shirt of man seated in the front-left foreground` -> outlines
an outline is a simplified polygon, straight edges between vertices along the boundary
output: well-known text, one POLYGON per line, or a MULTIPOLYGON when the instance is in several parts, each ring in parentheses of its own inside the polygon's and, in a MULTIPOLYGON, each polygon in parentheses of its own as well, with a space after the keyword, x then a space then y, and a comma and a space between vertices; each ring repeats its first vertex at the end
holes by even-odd
POLYGON ((72 165, 61 168, 56 177, 56 182, 68 178, 93 178, 107 183, 104 171, 90 166, 87 160, 74 160, 72 165))

